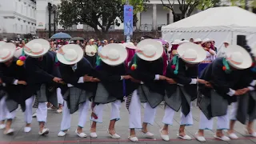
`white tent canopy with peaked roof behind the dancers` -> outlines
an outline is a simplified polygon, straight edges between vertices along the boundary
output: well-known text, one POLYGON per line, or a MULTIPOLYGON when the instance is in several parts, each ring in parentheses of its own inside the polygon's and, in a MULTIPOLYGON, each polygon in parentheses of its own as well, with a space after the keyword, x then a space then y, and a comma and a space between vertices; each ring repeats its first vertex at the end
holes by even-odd
POLYGON ((236 44, 238 34, 246 35, 250 46, 256 45, 256 14, 237 6, 210 8, 162 26, 162 38, 168 42, 182 38, 212 38, 218 48, 225 41, 236 44))

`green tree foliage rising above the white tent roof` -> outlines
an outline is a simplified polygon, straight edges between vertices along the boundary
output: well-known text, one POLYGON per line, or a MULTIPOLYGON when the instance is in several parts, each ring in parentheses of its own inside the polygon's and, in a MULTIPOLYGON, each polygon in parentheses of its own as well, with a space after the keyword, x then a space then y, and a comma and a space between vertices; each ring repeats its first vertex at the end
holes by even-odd
POLYGON ((189 17, 197 8, 198 10, 206 10, 210 7, 216 6, 220 0, 167 0, 168 4, 162 2, 162 6, 172 10, 174 17, 178 17, 178 13, 174 9, 174 2, 178 2, 178 9, 182 12, 180 19, 189 17))

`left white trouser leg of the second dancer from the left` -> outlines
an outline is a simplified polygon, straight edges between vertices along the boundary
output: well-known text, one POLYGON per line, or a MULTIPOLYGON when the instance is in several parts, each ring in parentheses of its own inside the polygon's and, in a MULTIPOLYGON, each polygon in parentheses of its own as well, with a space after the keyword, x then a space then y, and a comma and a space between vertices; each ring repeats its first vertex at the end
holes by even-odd
POLYGON ((32 122, 32 108, 33 108, 34 96, 26 99, 26 110, 24 113, 25 122, 30 124, 32 122))

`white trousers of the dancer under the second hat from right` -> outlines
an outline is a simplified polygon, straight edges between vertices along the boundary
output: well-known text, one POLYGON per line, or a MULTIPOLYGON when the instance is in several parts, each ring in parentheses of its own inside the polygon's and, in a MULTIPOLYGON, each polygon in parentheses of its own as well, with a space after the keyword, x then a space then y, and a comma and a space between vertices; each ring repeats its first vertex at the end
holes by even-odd
MULTIPOLYGON (((190 105, 192 106, 192 105, 190 105)), ((173 125, 174 122, 174 114, 176 111, 174 111, 170 106, 166 106, 165 109, 165 115, 162 118, 162 123, 167 124, 167 125, 173 125)), ((186 125, 186 126, 191 126, 193 125, 193 116, 192 116, 192 111, 190 109, 190 113, 185 115, 181 112, 181 122, 180 125, 186 125)))

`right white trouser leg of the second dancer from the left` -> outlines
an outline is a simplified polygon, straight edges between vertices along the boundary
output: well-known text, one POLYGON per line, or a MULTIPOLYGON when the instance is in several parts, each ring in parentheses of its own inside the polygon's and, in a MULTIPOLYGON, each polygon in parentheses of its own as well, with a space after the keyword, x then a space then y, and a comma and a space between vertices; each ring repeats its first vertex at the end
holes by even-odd
POLYGON ((38 122, 46 122, 47 120, 47 103, 46 102, 38 103, 37 119, 38 119, 38 122))

